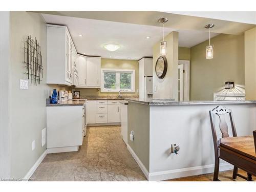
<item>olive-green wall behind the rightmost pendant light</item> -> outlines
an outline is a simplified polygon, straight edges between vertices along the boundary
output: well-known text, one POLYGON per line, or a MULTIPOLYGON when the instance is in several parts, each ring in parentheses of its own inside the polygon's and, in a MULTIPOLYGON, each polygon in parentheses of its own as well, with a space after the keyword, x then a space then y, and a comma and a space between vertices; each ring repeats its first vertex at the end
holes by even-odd
POLYGON ((213 100, 225 81, 244 86, 244 34, 212 38, 213 59, 205 59, 208 42, 190 48, 190 100, 213 100))

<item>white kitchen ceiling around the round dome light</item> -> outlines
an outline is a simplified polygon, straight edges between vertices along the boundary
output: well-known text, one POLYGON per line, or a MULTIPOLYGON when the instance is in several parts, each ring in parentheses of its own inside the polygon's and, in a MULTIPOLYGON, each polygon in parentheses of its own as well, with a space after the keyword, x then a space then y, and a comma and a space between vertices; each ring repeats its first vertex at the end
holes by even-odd
MULTIPOLYGON (((152 56, 153 45, 162 38, 162 27, 110 22, 87 18, 42 14, 47 23, 68 27, 78 53, 115 59, 140 59, 152 56), (82 34, 82 37, 79 36, 82 34), (150 36, 150 39, 146 39, 150 36), (120 49, 110 52, 105 44, 118 44, 120 49), (129 58, 130 57, 130 58, 129 58)), ((171 21, 170 21, 171 22, 171 21)), ((165 35, 179 32, 179 47, 193 47, 208 39, 208 31, 165 28, 165 35)), ((219 33, 211 33, 211 37, 219 33)))

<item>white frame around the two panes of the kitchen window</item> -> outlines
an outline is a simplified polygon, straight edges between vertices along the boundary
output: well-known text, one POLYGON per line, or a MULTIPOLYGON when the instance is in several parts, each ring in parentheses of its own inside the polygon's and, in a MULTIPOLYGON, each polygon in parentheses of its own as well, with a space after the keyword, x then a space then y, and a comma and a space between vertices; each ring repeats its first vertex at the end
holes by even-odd
POLYGON ((119 92, 120 91, 120 84, 117 84, 117 89, 105 89, 104 88, 104 72, 108 73, 117 73, 116 79, 117 82, 120 82, 120 73, 132 73, 131 77, 131 89, 121 89, 122 92, 135 92, 135 70, 134 69, 101 69, 101 83, 100 83, 100 92, 119 92))

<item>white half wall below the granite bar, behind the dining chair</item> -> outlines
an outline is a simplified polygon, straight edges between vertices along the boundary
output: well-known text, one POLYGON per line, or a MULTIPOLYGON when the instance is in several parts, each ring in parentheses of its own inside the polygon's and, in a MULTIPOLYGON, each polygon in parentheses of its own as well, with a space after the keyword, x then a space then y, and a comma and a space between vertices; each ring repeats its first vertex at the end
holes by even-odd
MULTIPOLYGON (((213 172, 214 144, 208 111, 217 105, 150 107, 150 180, 165 180, 213 172), (171 144, 180 146, 178 155, 170 153, 171 144)), ((223 106, 232 110, 238 136, 252 135, 256 127, 255 104, 223 106)), ((229 119, 226 118, 226 120, 229 124, 229 119)), ((218 136, 220 135, 219 133, 218 136)), ((232 136, 230 127, 229 135, 232 136)), ((224 161, 221 160, 221 163, 224 161)), ((220 170, 232 168, 227 164, 222 165, 220 170)))

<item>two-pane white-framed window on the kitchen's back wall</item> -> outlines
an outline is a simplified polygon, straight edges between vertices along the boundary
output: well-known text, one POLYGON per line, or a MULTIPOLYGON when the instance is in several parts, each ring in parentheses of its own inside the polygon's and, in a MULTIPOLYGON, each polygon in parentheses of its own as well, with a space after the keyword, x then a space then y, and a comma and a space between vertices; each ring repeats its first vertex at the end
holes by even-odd
POLYGON ((101 69, 101 92, 135 92, 135 70, 101 69))

